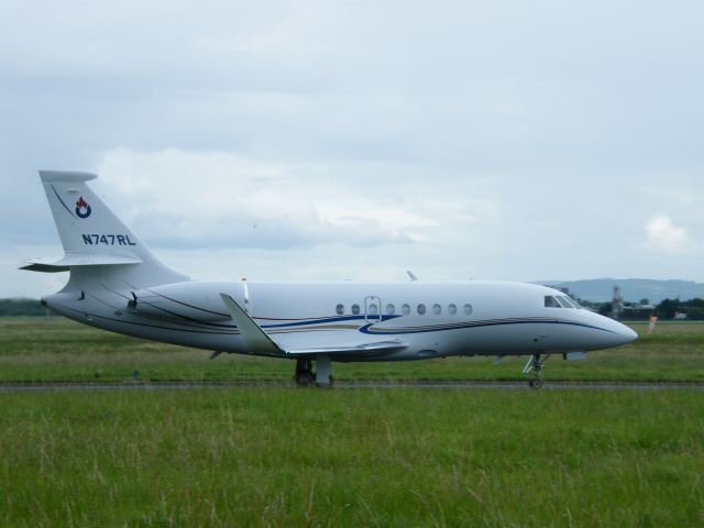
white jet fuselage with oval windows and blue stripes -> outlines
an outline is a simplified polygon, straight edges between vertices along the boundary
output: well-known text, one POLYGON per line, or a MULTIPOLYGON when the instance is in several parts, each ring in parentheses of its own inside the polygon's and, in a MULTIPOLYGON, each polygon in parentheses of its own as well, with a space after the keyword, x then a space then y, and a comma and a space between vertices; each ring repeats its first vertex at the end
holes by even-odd
MULTIPOLYGON (((72 283, 74 283, 72 280, 72 283)), ((546 306, 554 289, 525 283, 208 283, 143 289, 70 284, 50 308, 98 328, 173 344, 252 353, 219 297, 230 295, 282 348, 398 339, 403 350, 331 353, 334 361, 524 355, 616 346, 636 334, 590 310, 546 306), (82 295, 80 292, 89 292, 82 295)))

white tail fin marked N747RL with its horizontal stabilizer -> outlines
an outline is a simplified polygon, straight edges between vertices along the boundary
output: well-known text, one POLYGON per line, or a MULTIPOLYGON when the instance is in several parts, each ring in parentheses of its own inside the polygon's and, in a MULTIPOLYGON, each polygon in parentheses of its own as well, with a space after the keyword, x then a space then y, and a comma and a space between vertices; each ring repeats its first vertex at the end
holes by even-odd
POLYGON ((69 270, 72 275, 78 270, 99 270, 141 287, 188 280, 185 275, 162 264, 90 190, 86 182, 97 178, 97 175, 40 170, 40 176, 65 255, 57 261, 26 261, 23 270, 69 270))

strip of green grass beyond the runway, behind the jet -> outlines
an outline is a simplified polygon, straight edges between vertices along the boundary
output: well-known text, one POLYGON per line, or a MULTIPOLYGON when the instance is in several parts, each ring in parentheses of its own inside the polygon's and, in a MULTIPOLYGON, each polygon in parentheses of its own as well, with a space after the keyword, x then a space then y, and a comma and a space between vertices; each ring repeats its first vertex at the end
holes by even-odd
MULTIPOLYGON (((704 382, 704 323, 661 323, 653 336, 635 324, 635 343, 593 352, 586 361, 553 358, 548 381, 704 382)), ((293 362, 209 352, 127 338, 67 319, 0 318, 0 383, 141 381, 285 381, 293 362)), ((522 380, 527 358, 451 358, 405 363, 336 363, 338 380, 522 380)))

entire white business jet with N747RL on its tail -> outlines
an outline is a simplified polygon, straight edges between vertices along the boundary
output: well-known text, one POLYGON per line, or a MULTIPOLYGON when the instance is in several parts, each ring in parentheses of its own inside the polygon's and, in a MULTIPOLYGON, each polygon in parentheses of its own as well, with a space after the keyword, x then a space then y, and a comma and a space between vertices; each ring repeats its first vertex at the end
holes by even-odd
POLYGON ((165 266, 90 190, 89 173, 40 170, 64 246, 23 270, 69 272, 42 299, 70 319, 128 336, 220 353, 295 360, 300 385, 330 385, 332 362, 530 355, 542 385, 550 354, 634 341, 636 332, 561 292, 507 282, 193 282, 165 266), (312 362, 316 363, 316 373, 312 362))

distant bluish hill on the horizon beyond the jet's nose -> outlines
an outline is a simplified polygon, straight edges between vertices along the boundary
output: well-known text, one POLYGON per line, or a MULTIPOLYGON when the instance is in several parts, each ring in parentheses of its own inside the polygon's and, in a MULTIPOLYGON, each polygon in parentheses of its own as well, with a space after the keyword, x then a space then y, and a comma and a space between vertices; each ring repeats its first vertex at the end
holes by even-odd
POLYGON ((648 299, 658 304, 662 299, 682 300, 695 297, 704 298, 704 283, 694 280, 654 280, 650 278, 592 278, 587 280, 551 282, 540 280, 539 284, 569 288, 576 297, 593 302, 604 302, 614 296, 614 286, 620 287, 624 300, 637 302, 648 299))

